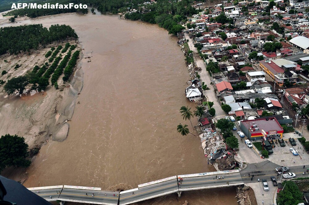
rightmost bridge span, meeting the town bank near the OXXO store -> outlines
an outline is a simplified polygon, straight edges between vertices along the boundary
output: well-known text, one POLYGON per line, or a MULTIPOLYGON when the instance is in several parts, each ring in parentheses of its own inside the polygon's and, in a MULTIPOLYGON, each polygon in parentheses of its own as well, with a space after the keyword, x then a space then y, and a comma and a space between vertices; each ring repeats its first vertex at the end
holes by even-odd
POLYGON ((179 186, 179 190, 186 191, 186 190, 197 190, 203 187, 204 189, 207 189, 207 188, 215 188, 223 186, 235 186, 235 184, 243 183, 243 180, 239 172, 220 174, 220 175, 218 174, 217 176, 224 176, 224 178, 218 180, 215 174, 199 176, 199 177, 183 178, 183 181, 179 186), (226 181, 229 182, 229 185, 227 185, 226 181))

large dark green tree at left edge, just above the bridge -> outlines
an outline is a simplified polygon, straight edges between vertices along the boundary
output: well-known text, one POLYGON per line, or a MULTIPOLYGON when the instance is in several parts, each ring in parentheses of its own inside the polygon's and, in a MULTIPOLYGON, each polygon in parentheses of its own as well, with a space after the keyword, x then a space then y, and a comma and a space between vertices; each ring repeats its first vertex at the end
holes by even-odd
POLYGON ((6 134, 0 138, 0 173, 8 166, 29 167, 28 144, 25 138, 6 134))

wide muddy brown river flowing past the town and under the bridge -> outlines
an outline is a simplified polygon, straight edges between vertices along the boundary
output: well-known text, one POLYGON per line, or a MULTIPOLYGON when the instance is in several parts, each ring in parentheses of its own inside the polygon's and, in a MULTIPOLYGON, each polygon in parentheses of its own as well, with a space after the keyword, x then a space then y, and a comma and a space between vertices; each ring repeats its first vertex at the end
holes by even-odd
MULTIPOLYGON (((79 36, 84 73, 80 104, 63 142, 45 145, 27 170, 24 185, 102 187, 138 184, 214 171, 198 137, 181 136, 181 106, 189 75, 177 38, 157 25, 119 16, 65 14, 20 24, 68 24, 79 36), (91 62, 87 62, 91 61, 91 62)), ((197 120, 192 120, 193 126, 197 120)), ((139 204, 237 204, 233 188, 185 192, 139 204)))

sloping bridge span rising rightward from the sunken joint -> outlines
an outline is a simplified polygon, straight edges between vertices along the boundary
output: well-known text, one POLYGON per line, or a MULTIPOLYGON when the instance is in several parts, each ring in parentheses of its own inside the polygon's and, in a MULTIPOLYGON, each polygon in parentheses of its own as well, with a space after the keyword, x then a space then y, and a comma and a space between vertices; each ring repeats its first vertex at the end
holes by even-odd
POLYGON ((177 179, 161 182, 149 186, 138 188, 133 192, 128 192, 120 195, 119 204, 129 204, 134 202, 152 199, 178 191, 177 179))

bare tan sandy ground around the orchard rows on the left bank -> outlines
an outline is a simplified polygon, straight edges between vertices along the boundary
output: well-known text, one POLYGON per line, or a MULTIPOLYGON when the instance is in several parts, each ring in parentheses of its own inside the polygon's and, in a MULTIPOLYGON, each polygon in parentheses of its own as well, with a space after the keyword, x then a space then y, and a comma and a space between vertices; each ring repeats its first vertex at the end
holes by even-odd
MULTIPOLYGON (((70 44, 77 43, 77 41, 73 40, 69 42, 70 44)), ((62 45, 64 47, 65 44, 66 42, 52 44, 47 48, 30 53, 30 55, 10 56, 7 54, 1 56, 0 80, 6 82, 12 77, 27 74, 35 65, 41 66, 48 62, 48 58, 45 58, 44 55, 52 46, 62 45), (15 69, 16 64, 21 66, 15 69), (1 76, 3 70, 7 73, 1 76)), ((62 53, 62 57, 65 55, 66 53, 62 53)), ((77 68, 80 67, 77 66, 77 68)), ((83 72, 81 69, 77 69, 70 84, 64 84, 62 76, 57 81, 58 90, 49 85, 43 92, 36 92, 30 90, 30 86, 27 86, 27 93, 22 96, 7 95, 3 90, 5 84, 1 85, 0 135, 17 134, 23 136, 30 149, 36 145, 42 146, 50 139, 65 140, 69 131, 67 121, 73 115, 78 93, 83 87, 83 72)), ((2 174, 6 172, 10 173, 11 171, 8 169, 2 174)))

